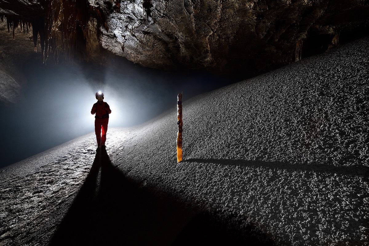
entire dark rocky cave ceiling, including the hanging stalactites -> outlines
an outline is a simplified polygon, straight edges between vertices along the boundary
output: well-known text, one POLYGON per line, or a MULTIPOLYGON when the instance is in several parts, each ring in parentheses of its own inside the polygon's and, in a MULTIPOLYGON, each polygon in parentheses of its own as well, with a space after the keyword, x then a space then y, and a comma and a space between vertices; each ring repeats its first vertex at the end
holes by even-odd
POLYGON ((18 52, 44 60, 252 76, 368 35, 368 13, 368 0, 0 0, 0 32, 20 29, 18 52))

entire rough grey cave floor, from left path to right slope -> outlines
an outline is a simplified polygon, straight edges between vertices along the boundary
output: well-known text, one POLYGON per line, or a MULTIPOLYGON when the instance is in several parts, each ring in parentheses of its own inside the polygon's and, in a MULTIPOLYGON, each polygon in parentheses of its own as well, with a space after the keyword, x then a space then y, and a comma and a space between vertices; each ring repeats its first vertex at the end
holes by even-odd
POLYGON ((108 131, 105 167, 96 166, 89 135, 58 148, 60 156, 53 150, 2 169, 1 245, 55 242, 52 236, 69 232, 71 215, 79 212, 85 225, 86 218, 101 222, 88 227, 96 230, 96 242, 124 233, 125 214, 132 212, 125 208, 132 206, 116 195, 129 193, 129 186, 138 187, 130 201, 142 195, 137 216, 130 217, 144 214, 142 232, 146 209, 166 208, 160 205, 165 201, 179 204, 171 210, 182 223, 172 228, 176 235, 201 224, 193 221, 203 216, 200 221, 215 221, 214 231, 223 226, 237 242, 251 237, 255 245, 368 245, 368 44, 369 38, 361 39, 190 100, 184 91, 181 163, 173 95, 173 111, 108 131), (99 196, 103 190, 106 196, 99 196), (141 202, 146 195, 152 202, 147 207, 141 202), (115 215, 121 224, 105 229, 115 215))

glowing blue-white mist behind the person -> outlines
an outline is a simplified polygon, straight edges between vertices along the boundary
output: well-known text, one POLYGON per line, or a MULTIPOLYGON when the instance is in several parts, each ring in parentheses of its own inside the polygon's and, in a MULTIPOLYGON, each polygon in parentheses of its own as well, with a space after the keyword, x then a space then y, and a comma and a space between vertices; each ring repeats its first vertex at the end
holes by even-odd
POLYGON ((103 91, 112 110, 109 128, 131 127, 170 108, 176 113, 180 92, 187 100, 237 80, 205 72, 148 69, 120 58, 105 66, 45 65, 40 59, 31 59, 24 63, 23 72, 27 84, 22 86, 20 100, 0 107, 4 119, 0 167, 94 134, 90 110, 97 90, 103 91))

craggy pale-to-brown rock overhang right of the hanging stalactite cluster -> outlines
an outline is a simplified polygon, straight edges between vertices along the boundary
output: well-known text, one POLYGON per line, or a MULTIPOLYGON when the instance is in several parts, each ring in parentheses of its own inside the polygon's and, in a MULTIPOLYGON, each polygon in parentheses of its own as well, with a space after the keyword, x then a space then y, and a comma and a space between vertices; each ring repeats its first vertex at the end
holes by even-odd
POLYGON ((132 0, 107 16, 101 45, 147 67, 250 76, 366 32, 365 1, 132 0))

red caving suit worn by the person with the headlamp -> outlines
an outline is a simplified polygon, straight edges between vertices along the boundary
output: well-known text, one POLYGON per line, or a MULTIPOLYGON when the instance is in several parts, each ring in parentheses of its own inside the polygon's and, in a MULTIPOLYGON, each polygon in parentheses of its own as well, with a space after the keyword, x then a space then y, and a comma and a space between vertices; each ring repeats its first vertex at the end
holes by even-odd
POLYGON ((108 131, 109 114, 111 113, 109 105, 104 101, 97 101, 92 106, 91 114, 95 114, 95 134, 97 146, 105 145, 106 132, 108 131))

